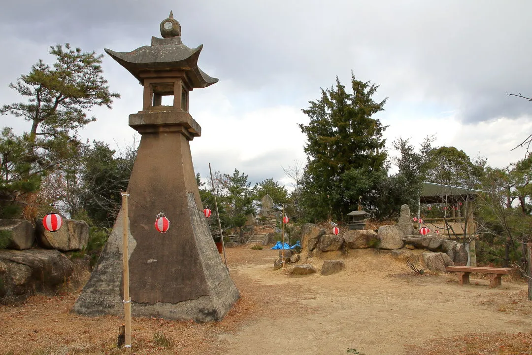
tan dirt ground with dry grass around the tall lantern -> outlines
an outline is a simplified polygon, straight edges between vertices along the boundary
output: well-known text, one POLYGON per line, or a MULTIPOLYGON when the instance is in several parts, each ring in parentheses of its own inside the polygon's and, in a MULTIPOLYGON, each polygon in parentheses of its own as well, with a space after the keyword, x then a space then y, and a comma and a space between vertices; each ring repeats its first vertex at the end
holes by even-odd
MULTIPOLYGON (((415 275, 384 252, 351 250, 345 269, 273 270, 277 251, 227 249, 240 299, 219 323, 132 320, 136 354, 529 354, 532 302, 526 284, 502 287, 453 274, 415 275), (157 337, 156 335, 159 335, 157 337), (163 340, 161 341, 161 335, 163 340), (518 344, 514 345, 514 344, 518 344), (356 349, 356 352, 355 350, 356 349)), ((300 261, 299 263, 303 263, 300 261)), ((119 317, 86 318, 70 308, 79 292, 34 296, 0 307, 0 354, 118 354, 119 317)), ((122 351, 123 352, 123 351, 122 351)))

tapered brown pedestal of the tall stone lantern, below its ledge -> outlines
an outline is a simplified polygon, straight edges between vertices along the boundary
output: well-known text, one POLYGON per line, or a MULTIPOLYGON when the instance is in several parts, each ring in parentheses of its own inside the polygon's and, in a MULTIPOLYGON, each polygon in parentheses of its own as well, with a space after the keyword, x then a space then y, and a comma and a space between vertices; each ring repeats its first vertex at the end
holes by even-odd
MULTIPOLYGON (((131 315, 220 320, 239 298, 205 222, 182 127, 143 133, 128 186, 131 315), (170 220, 167 233, 155 216, 170 220)), ((121 315, 123 218, 119 214, 73 311, 121 315)))

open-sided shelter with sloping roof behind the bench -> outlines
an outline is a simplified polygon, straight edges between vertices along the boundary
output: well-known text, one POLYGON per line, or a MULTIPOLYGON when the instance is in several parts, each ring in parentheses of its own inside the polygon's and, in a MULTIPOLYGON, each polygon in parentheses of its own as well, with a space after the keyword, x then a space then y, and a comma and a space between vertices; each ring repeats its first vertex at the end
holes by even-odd
POLYGON ((473 218, 473 201, 481 191, 444 184, 424 182, 421 185, 418 204, 418 219, 421 217, 421 205, 427 206, 427 216, 418 227, 429 227, 449 239, 461 239, 468 250, 469 266, 476 266, 475 239, 476 224, 473 218), (434 211, 432 205, 438 205, 434 211), (437 212, 437 211, 440 212, 437 212), (431 218, 430 214, 443 214, 442 217, 431 218))

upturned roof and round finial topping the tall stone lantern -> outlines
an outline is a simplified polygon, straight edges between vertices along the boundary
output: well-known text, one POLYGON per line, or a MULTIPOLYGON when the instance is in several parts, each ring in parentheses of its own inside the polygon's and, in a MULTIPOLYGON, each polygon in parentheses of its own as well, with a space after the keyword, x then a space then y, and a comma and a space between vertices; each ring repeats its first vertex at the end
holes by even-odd
POLYGON ((204 88, 218 82, 198 68, 197 61, 203 45, 189 48, 181 42, 181 26, 173 14, 161 22, 161 36, 152 37, 151 46, 142 46, 131 52, 115 52, 104 48, 115 61, 126 68, 144 85, 144 78, 150 73, 184 71, 189 79, 190 89, 204 88), (143 75, 146 73, 147 75, 143 75))

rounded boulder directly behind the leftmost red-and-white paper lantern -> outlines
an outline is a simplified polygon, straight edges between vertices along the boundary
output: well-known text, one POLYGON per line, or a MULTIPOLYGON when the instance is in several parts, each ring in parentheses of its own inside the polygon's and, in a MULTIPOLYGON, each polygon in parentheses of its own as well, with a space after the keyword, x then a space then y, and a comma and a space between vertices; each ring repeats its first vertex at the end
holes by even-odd
POLYGON ((35 225, 37 242, 46 249, 76 251, 84 249, 89 241, 89 226, 85 221, 63 219, 63 226, 56 232, 44 229, 43 221, 38 219, 35 225))

